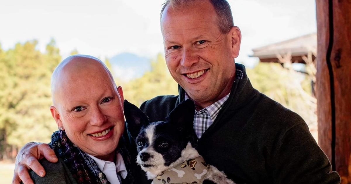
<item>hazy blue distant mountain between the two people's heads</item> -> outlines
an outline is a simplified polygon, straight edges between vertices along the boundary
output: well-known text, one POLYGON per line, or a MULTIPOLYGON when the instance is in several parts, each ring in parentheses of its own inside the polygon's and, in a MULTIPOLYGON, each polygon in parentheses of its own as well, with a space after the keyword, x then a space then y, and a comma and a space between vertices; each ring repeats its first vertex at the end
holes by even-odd
POLYGON ((122 81, 130 81, 141 77, 151 69, 150 58, 140 57, 133 53, 124 52, 109 58, 115 77, 122 81))

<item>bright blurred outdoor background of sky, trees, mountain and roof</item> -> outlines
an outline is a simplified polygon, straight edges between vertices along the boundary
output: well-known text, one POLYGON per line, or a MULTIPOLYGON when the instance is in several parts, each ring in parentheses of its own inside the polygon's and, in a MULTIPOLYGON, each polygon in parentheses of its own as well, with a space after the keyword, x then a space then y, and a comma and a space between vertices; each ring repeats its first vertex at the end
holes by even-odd
MULTIPOLYGON (((229 0, 243 38, 235 60, 261 93, 304 118, 317 140, 314 0, 229 0)), ((0 1, 0 183, 26 142, 49 142, 50 77, 73 54, 100 58, 139 106, 177 94, 160 31, 163 0, 0 1)))

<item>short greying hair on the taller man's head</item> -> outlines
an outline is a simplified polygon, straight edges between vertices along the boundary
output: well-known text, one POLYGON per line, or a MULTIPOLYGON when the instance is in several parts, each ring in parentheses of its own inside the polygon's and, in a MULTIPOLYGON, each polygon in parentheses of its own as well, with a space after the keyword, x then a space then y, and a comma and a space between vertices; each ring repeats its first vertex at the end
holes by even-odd
MULTIPOLYGON (((196 0, 166 0, 161 9, 161 18, 167 5, 173 8, 191 5, 196 0)), ((221 33, 228 33, 234 26, 230 5, 226 0, 209 0, 218 15, 218 27, 221 33)))

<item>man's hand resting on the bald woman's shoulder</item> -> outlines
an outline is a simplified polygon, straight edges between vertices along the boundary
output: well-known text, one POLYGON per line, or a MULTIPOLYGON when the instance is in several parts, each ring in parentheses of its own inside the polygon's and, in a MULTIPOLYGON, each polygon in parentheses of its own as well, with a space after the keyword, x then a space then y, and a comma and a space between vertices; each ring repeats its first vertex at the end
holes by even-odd
POLYGON ((46 158, 50 162, 57 162, 58 158, 55 152, 48 144, 29 142, 24 145, 18 152, 13 173, 12 184, 34 184, 29 176, 29 170, 32 169, 38 176, 44 177, 45 170, 38 160, 46 158))

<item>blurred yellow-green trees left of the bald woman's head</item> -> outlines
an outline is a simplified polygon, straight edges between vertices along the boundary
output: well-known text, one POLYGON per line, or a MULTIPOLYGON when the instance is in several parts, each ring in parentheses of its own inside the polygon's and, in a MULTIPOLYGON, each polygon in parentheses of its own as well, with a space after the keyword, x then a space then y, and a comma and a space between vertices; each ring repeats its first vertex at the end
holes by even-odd
POLYGON ((61 56, 54 40, 47 44, 45 53, 36 49, 37 43, 18 43, 13 49, 0 52, 2 146, 48 142, 57 127, 49 110, 50 77, 61 56))

